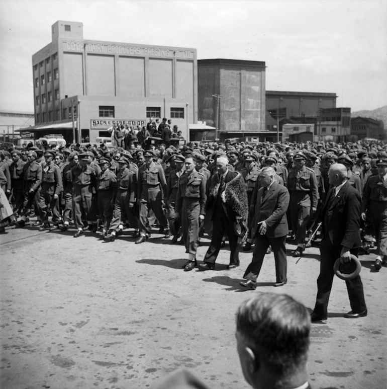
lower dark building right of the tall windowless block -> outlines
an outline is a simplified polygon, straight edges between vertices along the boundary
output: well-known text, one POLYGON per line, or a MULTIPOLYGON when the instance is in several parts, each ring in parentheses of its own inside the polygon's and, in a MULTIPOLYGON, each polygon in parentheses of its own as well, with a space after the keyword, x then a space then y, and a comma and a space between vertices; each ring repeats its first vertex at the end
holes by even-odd
POLYGON ((298 124, 315 124, 320 110, 336 108, 336 100, 335 93, 266 91, 265 128, 271 136, 267 140, 277 139, 278 124, 280 140, 285 123, 291 122, 296 127, 298 124))

